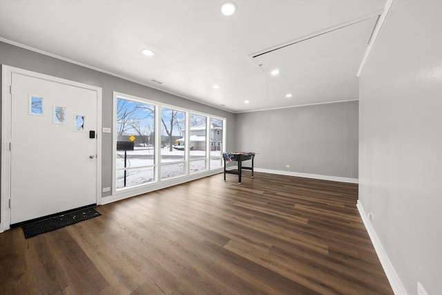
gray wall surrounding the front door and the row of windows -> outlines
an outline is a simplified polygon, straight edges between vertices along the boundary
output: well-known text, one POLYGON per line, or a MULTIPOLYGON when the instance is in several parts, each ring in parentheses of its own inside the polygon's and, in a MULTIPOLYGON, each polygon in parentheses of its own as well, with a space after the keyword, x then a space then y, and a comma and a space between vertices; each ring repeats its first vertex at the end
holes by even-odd
MULTIPOLYGON (((212 108, 204 104, 198 104, 189 99, 177 97, 169 93, 157 91, 153 88, 129 82, 118 77, 106 75, 96 70, 77 66, 75 64, 41 55, 17 46, 0 42, 0 64, 32 70, 75 82, 81 82, 102 88, 102 126, 113 128, 113 91, 152 99, 164 104, 171 104, 193 111, 200 111, 227 118, 227 149, 233 149, 235 145, 235 114, 212 108)), ((112 135, 111 133, 99 133, 102 135, 102 187, 112 187, 112 135)), ((109 193, 103 193, 108 196, 109 193)))

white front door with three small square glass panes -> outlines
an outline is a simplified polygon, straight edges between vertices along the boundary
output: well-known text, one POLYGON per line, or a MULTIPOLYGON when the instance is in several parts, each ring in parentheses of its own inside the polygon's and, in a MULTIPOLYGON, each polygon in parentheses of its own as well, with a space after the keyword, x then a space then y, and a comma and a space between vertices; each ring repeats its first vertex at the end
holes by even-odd
POLYGON ((10 224, 97 203, 97 91, 11 80, 10 224))

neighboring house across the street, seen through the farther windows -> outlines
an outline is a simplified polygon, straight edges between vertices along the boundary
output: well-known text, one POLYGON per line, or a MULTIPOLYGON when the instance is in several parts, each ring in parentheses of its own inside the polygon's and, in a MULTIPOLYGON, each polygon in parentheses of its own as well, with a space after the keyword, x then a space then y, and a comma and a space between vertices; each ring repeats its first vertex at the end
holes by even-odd
MULTIPOLYGON (((204 151, 206 149, 206 124, 200 124, 190 129, 190 149, 193 151, 204 151)), ((211 151, 222 150, 222 126, 210 124, 211 151)), ((184 149, 184 138, 177 140, 175 149, 184 149)))

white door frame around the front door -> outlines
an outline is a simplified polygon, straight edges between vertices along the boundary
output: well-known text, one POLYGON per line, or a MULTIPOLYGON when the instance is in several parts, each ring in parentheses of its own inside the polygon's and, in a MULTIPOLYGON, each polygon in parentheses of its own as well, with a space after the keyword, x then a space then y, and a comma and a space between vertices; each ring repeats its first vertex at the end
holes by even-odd
POLYGON ((50 82, 57 82, 69 86, 85 88, 97 92, 97 204, 102 204, 102 88, 73 82, 58 77, 52 77, 40 73, 23 70, 12 66, 1 66, 1 200, 0 200, 0 232, 10 229, 10 207, 11 198, 11 102, 12 102, 12 74, 26 75, 50 82))

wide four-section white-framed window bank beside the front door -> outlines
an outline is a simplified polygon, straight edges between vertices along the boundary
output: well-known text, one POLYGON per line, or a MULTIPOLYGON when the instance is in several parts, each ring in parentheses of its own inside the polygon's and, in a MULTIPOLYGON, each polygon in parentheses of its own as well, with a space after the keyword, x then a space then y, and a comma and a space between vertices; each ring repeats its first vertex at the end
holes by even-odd
MULTIPOLYGON (((116 191, 222 167, 225 119, 122 93, 114 99, 116 191)), ((75 115, 75 128, 86 119, 75 115)))

